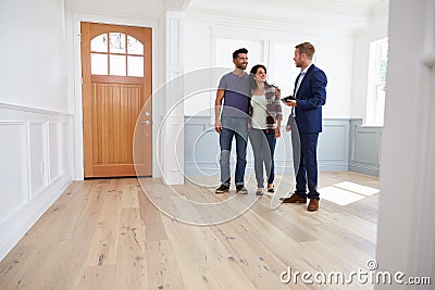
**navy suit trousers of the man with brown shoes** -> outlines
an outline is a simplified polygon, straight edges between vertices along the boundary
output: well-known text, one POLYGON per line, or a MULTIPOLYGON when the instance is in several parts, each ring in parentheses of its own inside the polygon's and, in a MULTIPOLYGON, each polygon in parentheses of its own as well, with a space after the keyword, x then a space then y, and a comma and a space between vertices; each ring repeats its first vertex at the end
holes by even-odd
POLYGON ((318 192, 318 139, 319 133, 300 133, 300 161, 296 175, 298 196, 319 200, 318 192), (308 193, 307 193, 308 185, 308 193))

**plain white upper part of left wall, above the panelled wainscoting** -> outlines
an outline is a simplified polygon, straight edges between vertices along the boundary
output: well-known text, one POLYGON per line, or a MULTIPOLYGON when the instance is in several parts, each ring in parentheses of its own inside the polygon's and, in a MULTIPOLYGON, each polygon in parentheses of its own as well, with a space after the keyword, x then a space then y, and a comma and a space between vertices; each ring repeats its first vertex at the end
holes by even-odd
POLYGON ((67 112, 63 0, 2 0, 0 35, 0 102, 67 112))

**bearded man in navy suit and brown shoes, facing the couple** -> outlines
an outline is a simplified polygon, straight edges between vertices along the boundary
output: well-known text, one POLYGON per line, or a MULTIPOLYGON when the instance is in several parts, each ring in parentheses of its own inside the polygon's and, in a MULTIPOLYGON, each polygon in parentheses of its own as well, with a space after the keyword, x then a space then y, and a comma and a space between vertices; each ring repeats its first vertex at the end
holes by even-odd
POLYGON ((326 102, 326 75, 312 63, 314 46, 303 42, 295 47, 295 64, 300 74, 295 81, 296 100, 286 102, 291 108, 286 130, 291 129, 295 121, 300 140, 300 160, 296 175, 296 191, 282 199, 284 203, 307 203, 308 211, 319 209, 318 192, 318 139, 322 131, 322 105, 326 102), (308 186, 308 192, 307 192, 308 186))

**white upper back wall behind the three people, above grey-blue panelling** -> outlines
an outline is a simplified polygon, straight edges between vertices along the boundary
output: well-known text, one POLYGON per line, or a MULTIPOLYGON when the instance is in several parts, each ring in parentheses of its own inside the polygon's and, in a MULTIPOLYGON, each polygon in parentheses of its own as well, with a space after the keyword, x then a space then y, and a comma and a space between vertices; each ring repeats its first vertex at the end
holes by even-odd
MULTIPOLYGON (((299 71, 293 61, 294 48, 302 41, 310 41, 316 48, 314 63, 324 70, 328 77, 327 101, 324 106, 324 117, 350 117, 351 75, 353 59, 352 34, 343 29, 324 27, 307 27, 297 23, 274 23, 251 20, 224 17, 222 15, 199 15, 185 13, 184 17, 185 72, 208 68, 216 65, 216 38, 247 39, 261 41, 263 58, 249 55, 250 67, 263 63, 268 67, 269 79, 278 85, 283 94, 289 94, 299 71), (286 48, 283 50, 283 46, 286 48), (276 48, 276 49, 274 49, 276 48), (278 54, 276 54, 278 51, 278 54), (275 54, 274 54, 275 53, 275 54)), ((244 46, 240 41, 239 46, 244 46)), ((249 50, 249 42, 246 43, 249 50)), ((239 47, 237 47, 239 48, 239 47)), ((235 48, 235 49, 237 49, 235 48)), ((234 49, 234 50, 235 50, 234 49)), ((234 68, 232 55, 228 59, 229 70, 234 68)), ((211 84, 214 89, 216 84, 211 84)), ((185 104, 186 115, 208 115, 214 104, 214 91, 201 93, 189 99, 185 104), (200 111, 198 113, 198 111, 200 111)))

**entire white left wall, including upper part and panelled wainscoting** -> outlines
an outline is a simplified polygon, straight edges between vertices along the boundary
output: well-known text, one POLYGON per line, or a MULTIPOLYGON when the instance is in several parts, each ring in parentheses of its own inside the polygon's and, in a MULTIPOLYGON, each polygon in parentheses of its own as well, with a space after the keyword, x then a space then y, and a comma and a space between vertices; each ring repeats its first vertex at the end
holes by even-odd
POLYGON ((0 260, 72 180, 63 0, 0 2, 0 260))

